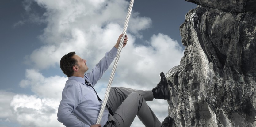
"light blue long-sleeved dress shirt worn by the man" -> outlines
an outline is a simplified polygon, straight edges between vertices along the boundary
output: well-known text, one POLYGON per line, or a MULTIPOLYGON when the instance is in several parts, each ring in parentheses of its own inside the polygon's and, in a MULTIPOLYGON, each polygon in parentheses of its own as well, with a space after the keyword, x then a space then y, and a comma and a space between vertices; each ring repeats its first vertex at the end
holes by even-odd
MULTIPOLYGON (((82 77, 68 77, 62 91, 62 100, 59 104, 58 120, 67 127, 90 127, 96 124, 102 105, 93 88, 85 84, 85 79, 93 86, 109 68, 117 54, 117 48, 113 47, 105 54, 92 71, 82 77)), ((101 119, 101 126, 108 121, 109 111, 105 110, 101 119)))

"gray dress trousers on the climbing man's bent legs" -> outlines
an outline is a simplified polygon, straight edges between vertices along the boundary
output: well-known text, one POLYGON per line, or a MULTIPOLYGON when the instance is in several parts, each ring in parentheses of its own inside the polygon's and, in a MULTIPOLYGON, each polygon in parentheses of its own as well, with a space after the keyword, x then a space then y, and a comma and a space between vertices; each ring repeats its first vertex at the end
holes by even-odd
POLYGON ((136 115, 146 127, 160 127, 161 122, 146 103, 153 99, 151 90, 112 87, 107 104, 111 107, 113 116, 109 114, 107 127, 129 127, 136 115))

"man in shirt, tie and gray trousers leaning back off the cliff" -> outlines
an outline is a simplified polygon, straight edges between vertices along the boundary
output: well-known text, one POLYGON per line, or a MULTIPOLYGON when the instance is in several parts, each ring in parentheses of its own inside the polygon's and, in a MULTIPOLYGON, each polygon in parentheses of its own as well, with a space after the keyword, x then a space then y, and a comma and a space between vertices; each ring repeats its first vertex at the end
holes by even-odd
MULTIPOLYGON (((154 98, 169 98, 164 73, 160 74, 159 84, 149 91, 112 87, 101 123, 95 124, 102 101, 93 86, 115 58, 121 37, 122 34, 115 46, 88 73, 86 73, 88 70, 86 60, 75 52, 70 52, 61 58, 60 68, 68 77, 58 111, 58 120, 63 125, 67 127, 129 127, 137 115, 148 127, 171 126, 171 117, 166 117, 161 123, 145 102, 154 98)), ((127 44, 127 40, 125 36, 123 47, 127 44)))

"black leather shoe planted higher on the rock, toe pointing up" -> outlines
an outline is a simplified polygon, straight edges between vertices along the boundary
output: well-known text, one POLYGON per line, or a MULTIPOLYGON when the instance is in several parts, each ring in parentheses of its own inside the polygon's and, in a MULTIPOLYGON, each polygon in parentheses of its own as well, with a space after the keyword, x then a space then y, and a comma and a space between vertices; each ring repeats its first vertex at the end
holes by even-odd
POLYGON ((160 78, 160 82, 152 89, 154 98, 167 100, 169 99, 170 93, 168 92, 168 84, 163 72, 160 73, 160 78))

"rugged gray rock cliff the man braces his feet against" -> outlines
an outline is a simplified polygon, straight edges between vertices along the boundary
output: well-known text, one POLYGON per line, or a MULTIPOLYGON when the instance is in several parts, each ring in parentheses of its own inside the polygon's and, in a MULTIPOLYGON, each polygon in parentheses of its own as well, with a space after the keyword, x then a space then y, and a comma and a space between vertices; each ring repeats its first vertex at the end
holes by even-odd
POLYGON ((174 126, 255 127, 256 13, 187 1, 201 5, 187 13, 180 27, 184 57, 166 74, 174 126))

